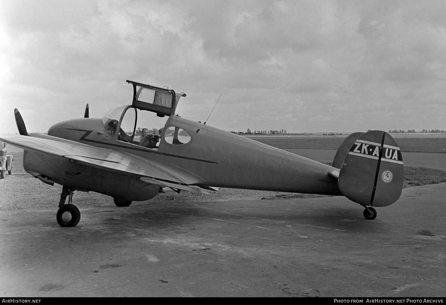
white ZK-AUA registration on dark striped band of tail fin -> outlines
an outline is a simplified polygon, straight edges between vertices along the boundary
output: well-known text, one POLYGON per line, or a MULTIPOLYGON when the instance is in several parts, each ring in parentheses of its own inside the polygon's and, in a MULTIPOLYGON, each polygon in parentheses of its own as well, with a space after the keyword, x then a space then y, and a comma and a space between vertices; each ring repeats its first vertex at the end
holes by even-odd
MULTIPOLYGON (((349 155, 367 157, 378 160, 380 157, 380 143, 357 140, 350 148, 349 155)), ((400 148, 392 145, 384 144, 383 161, 403 164, 400 148)))

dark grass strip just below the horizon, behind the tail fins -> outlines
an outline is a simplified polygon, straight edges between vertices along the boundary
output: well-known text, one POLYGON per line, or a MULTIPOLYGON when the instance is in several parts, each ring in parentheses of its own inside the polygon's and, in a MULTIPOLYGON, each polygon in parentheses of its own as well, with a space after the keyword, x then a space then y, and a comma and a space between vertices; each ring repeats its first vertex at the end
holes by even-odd
MULTIPOLYGON (((346 138, 341 136, 250 136, 252 140, 281 149, 338 149, 346 138)), ((446 138, 395 138, 403 152, 446 153, 446 138)))

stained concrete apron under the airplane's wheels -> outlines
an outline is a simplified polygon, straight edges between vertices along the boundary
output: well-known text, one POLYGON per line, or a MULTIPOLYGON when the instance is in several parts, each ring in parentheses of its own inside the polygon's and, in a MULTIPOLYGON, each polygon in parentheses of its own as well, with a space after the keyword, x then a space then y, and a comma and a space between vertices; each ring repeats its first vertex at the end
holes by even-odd
POLYGON ((2 297, 444 297, 445 183, 347 198, 0 212, 2 297))

